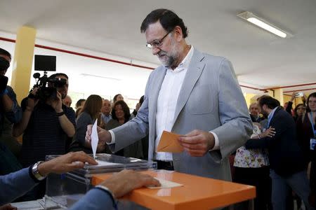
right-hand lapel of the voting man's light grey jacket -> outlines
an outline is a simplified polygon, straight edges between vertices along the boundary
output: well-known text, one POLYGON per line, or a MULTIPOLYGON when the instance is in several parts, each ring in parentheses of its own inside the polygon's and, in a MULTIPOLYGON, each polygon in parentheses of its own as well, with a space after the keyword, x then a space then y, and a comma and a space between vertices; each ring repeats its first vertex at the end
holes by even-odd
POLYGON ((187 103, 187 99, 189 98, 193 87, 195 87, 195 83, 197 83, 197 80, 201 76, 205 66, 203 58, 204 55, 201 52, 194 50, 189 68, 187 69, 187 73, 185 74, 185 78, 183 80, 183 85, 179 92, 176 112, 173 118, 173 125, 176 123, 176 119, 178 118, 180 111, 183 109, 183 106, 187 103))

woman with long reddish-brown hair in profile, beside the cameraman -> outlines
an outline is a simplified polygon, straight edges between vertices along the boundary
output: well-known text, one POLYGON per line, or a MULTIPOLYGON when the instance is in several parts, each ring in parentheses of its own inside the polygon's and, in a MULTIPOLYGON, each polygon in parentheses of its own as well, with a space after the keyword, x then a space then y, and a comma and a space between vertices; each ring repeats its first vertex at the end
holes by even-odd
MULTIPOLYGON (((84 138, 86 137, 87 125, 93 124, 100 116, 101 107, 103 106, 102 98, 97 94, 91 94, 81 113, 77 117, 76 134, 70 146, 70 151, 84 151, 85 153, 92 153, 91 145, 86 145, 84 138)), ((98 121, 98 123, 100 123, 98 121)))

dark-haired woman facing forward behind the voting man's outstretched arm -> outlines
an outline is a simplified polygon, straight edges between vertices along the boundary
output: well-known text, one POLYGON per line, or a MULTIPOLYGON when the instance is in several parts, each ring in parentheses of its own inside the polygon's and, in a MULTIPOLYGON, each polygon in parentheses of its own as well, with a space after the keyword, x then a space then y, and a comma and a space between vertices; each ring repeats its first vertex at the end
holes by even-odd
MULTIPOLYGON (((131 118, 129 113, 129 106, 124 101, 117 101, 112 108, 112 120, 105 125, 106 130, 111 130, 114 127, 119 127, 128 122, 131 118)), ((143 159, 142 141, 137 141, 124 149, 121 149, 115 155, 121 155, 126 158, 140 158, 143 159)))

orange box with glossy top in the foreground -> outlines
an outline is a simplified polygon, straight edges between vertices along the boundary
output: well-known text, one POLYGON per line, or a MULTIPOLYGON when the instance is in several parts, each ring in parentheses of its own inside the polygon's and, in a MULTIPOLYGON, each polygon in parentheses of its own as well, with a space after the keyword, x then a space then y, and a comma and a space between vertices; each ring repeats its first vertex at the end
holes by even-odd
MULTIPOLYGON (((256 197, 254 186, 165 170, 142 173, 183 185, 175 188, 140 188, 124 197, 149 209, 213 209, 256 197)), ((97 185, 110 176, 112 174, 93 174, 92 184, 97 185)))

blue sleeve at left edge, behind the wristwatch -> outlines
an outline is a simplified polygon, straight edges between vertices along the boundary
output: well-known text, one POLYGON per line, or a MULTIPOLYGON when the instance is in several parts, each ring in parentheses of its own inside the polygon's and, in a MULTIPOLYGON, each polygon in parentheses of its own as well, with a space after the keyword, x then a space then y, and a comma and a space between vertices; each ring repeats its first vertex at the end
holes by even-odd
POLYGON ((37 182, 29 175, 29 168, 0 176, 0 206, 25 195, 34 186, 37 182))

